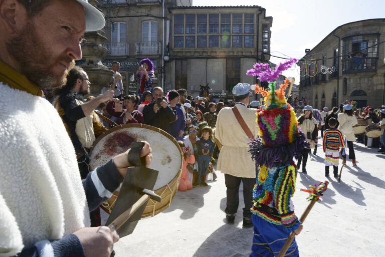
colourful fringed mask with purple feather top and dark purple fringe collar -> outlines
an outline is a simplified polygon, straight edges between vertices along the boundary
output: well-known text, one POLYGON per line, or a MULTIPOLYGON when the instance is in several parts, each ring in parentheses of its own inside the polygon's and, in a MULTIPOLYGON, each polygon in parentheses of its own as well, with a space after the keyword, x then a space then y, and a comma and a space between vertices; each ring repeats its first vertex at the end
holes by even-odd
POLYGON ((295 112, 285 98, 284 90, 289 85, 289 80, 286 79, 278 89, 274 82, 281 72, 296 62, 296 59, 290 59, 280 63, 274 71, 268 67, 269 64, 256 63, 254 69, 247 71, 248 75, 259 76, 260 81, 269 82, 268 89, 258 85, 255 89, 255 93, 264 96, 265 102, 265 108, 257 113, 256 119, 260 138, 251 143, 250 152, 256 165, 266 165, 268 168, 286 165, 293 156, 301 156, 306 145, 295 112))

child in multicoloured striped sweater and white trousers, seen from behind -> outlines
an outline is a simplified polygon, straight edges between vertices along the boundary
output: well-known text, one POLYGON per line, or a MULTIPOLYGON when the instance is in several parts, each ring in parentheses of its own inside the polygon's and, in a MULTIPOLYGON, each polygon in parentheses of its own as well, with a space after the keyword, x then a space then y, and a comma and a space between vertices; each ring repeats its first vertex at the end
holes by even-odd
POLYGON ((330 129, 325 130, 322 144, 325 152, 325 176, 329 176, 329 166, 333 166, 334 177, 338 177, 339 149, 345 147, 345 141, 341 131, 335 128, 335 118, 330 118, 328 125, 330 129))

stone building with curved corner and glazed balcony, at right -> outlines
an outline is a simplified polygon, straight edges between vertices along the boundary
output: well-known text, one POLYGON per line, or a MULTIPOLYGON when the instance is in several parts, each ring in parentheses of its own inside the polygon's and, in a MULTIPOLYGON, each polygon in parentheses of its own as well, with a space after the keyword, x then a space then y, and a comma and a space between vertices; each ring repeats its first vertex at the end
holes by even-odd
POLYGON ((385 19, 337 27, 300 60, 300 96, 317 109, 330 109, 345 100, 356 101, 358 108, 381 107, 385 104, 384 41, 385 19))

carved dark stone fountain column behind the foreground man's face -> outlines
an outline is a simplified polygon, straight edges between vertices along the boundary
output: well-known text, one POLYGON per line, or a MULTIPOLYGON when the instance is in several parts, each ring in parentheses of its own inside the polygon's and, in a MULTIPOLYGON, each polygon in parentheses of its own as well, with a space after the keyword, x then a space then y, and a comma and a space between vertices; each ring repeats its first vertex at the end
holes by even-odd
MULTIPOLYGON (((89 0, 88 3, 96 7, 98 1, 89 0)), ((85 63, 80 66, 91 82, 90 95, 97 96, 102 93, 103 87, 108 87, 114 81, 114 72, 102 64, 102 59, 108 54, 108 50, 102 46, 107 38, 103 31, 86 32, 84 38, 86 41, 82 44, 82 53, 85 63)))

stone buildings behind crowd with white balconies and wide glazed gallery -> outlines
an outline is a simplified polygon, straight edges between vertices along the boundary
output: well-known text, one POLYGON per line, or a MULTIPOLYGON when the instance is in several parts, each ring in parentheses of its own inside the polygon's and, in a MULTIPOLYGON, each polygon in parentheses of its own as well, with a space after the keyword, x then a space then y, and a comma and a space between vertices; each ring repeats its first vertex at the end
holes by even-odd
POLYGON ((143 58, 154 63, 154 85, 165 91, 184 88, 197 95, 200 85, 214 95, 232 98, 238 82, 255 62, 268 61, 272 17, 259 6, 192 7, 190 1, 99 1, 107 67, 120 62, 125 93, 134 93, 134 74, 143 58))

